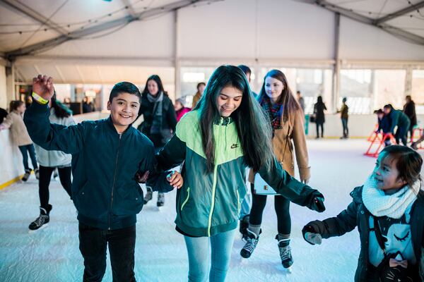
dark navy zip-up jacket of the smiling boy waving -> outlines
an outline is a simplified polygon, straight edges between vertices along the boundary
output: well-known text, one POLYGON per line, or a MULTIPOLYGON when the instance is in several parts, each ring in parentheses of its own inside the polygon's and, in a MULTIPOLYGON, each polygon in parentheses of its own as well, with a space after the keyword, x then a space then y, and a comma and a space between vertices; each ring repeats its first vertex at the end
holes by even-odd
POLYGON ((25 125, 40 147, 72 154, 72 199, 81 223, 103 230, 133 226, 143 207, 137 172, 150 172, 153 190, 172 190, 166 173, 155 171, 152 142, 136 128, 118 134, 111 118, 65 126, 50 123, 49 114, 47 105, 34 102, 25 125))

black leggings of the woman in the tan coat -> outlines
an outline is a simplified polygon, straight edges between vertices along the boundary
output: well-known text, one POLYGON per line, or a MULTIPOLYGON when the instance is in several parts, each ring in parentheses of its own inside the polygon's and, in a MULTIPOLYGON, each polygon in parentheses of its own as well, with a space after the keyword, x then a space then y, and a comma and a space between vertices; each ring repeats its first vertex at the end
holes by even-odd
MULTIPOLYGON (((254 194, 253 184, 250 185, 250 188, 252 190, 252 209, 250 210, 249 223, 261 225, 262 213, 266 205, 266 195, 254 194)), ((289 235, 291 231, 290 201, 281 195, 275 195, 274 208, 277 214, 278 233, 289 235)))

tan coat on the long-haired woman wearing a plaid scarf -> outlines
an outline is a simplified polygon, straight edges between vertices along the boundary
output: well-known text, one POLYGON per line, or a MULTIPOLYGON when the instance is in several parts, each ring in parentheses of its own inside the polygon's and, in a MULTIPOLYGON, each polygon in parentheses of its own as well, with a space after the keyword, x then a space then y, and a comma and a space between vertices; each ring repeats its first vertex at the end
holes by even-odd
MULTIPOLYGON (((281 123, 283 123, 283 117, 281 117, 281 123)), ((281 129, 275 130, 272 139, 273 151, 278 161, 280 161, 290 176, 295 176, 294 145, 301 181, 309 180, 310 178, 304 123, 305 116, 302 110, 299 109, 288 115, 288 121, 283 123, 281 129)), ((254 183, 254 173, 252 173, 252 170, 249 173, 249 182, 254 183)))

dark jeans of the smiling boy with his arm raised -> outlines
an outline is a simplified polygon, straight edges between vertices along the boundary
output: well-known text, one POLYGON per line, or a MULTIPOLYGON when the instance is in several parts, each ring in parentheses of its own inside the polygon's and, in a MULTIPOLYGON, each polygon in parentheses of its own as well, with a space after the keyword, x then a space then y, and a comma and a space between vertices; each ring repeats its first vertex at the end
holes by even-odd
POLYGON ((102 281, 109 245, 113 282, 135 282, 134 247, 136 226, 102 230, 79 223, 80 251, 84 258, 84 282, 102 281))

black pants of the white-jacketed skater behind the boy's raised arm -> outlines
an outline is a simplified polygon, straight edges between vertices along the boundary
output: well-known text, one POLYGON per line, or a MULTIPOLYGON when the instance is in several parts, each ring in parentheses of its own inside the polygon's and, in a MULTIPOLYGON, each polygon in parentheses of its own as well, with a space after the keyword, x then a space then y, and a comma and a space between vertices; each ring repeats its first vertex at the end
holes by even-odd
MULTIPOLYGON (((49 185, 50 178, 54 167, 40 166, 40 180, 38 182, 38 195, 40 195, 40 207, 47 209, 49 205, 49 185)), ((57 168, 59 171, 60 183, 65 188, 65 191, 71 197, 71 166, 64 168, 57 168)))

